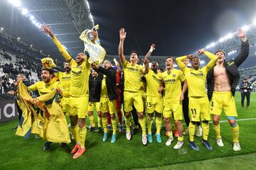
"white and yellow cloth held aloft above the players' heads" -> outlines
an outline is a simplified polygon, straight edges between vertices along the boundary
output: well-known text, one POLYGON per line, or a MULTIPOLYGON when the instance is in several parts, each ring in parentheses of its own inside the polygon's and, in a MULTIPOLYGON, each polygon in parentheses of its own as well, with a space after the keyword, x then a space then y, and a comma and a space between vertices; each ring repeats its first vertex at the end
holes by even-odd
MULTIPOLYGON (((98 25, 92 28, 92 30, 97 30, 98 25)), ((95 40, 95 43, 93 43, 90 38, 88 37, 88 33, 90 33, 92 30, 86 29, 84 30, 80 35, 80 40, 84 42, 85 50, 84 52, 87 52, 90 56, 88 62, 99 62, 102 63, 106 51, 105 49, 100 45, 100 39, 97 37, 97 40, 95 40)))

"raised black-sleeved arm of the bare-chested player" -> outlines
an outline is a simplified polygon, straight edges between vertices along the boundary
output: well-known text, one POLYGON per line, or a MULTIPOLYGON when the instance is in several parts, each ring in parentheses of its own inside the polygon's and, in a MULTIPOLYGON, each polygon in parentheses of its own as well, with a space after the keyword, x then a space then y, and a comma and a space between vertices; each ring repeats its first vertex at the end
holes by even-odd
POLYGON ((241 38, 242 44, 241 44, 240 53, 239 53, 238 57, 235 57, 235 60, 234 60, 235 65, 237 67, 239 67, 242 64, 242 62, 244 62, 247 59, 247 57, 249 55, 249 43, 247 41, 245 31, 238 29, 238 37, 241 38))

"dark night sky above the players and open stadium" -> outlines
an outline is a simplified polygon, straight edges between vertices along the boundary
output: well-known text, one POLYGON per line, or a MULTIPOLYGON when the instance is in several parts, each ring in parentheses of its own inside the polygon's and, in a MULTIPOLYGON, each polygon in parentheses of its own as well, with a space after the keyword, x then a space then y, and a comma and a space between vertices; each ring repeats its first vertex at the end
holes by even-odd
POLYGON ((139 1, 89 0, 95 24, 100 24, 102 46, 117 55, 119 28, 127 38, 124 54, 145 54, 157 45, 154 55, 186 55, 221 36, 252 23, 256 1, 139 1))

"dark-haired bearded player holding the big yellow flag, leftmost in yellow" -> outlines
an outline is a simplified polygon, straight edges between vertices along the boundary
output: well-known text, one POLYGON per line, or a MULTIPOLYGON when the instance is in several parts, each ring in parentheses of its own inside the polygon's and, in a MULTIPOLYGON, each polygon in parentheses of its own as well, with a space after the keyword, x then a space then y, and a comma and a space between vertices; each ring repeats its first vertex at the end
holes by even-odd
MULTIPOLYGON (((44 94, 50 93, 52 89, 56 89, 60 96, 68 97, 68 91, 64 88, 64 86, 60 83, 60 81, 53 80, 53 70, 52 69, 42 69, 41 72, 42 81, 38 81, 36 84, 32 84, 28 86, 28 91, 38 91, 39 96, 43 96, 44 94)), ((46 108, 50 108, 53 100, 46 101, 46 108)), ((55 124, 57 125, 57 124, 55 124)), ((66 128, 68 130, 68 124, 65 122, 66 128)), ((63 128, 63 126, 56 127, 58 129, 63 128)), ((50 148, 50 144, 52 142, 46 142, 43 150, 47 150, 50 148)), ((66 143, 61 143, 61 147, 68 148, 66 143)))

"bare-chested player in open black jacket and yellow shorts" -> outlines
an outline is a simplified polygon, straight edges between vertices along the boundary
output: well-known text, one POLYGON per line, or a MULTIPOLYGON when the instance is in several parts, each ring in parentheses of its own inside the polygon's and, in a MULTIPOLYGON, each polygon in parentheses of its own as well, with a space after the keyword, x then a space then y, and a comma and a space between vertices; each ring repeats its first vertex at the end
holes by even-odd
POLYGON ((213 115, 213 129, 216 134, 216 142, 219 147, 223 147, 220 136, 220 115, 224 110, 228 117, 230 129, 233 133, 233 150, 240 151, 239 126, 236 121, 238 113, 235 108, 235 86, 237 86, 240 75, 238 67, 246 60, 249 54, 249 43, 244 30, 238 30, 238 37, 241 38, 241 50, 234 60, 225 61, 225 52, 218 50, 215 55, 218 61, 215 67, 210 70, 207 77, 208 98, 210 99, 210 114, 213 115))

